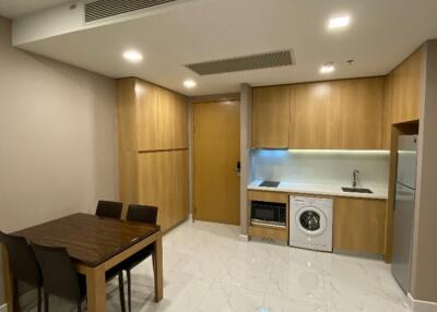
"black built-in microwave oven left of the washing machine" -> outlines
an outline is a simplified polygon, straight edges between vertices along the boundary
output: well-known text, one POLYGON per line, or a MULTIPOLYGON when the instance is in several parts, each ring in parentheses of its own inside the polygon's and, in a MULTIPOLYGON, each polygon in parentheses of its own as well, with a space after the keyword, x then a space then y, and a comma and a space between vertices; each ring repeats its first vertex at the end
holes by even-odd
POLYGON ((286 227, 286 204, 252 201, 250 223, 252 225, 286 227))

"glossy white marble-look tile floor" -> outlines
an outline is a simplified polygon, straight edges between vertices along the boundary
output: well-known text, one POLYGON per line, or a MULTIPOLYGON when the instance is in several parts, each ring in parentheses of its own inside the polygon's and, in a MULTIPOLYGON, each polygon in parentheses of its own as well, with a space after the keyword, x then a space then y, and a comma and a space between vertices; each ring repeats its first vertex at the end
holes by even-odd
MULTIPOLYGON (((381 261, 244 242, 227 225, 187 221, 167 233, 164 279, 165 299, 155 303, 151 261, 137 267, 132 311, 410 311, 381 261)), ((120 311, 117 287, 107 287, 111 312, 120 311)), ((52 303, 50 311, 74 311, 52 303)))

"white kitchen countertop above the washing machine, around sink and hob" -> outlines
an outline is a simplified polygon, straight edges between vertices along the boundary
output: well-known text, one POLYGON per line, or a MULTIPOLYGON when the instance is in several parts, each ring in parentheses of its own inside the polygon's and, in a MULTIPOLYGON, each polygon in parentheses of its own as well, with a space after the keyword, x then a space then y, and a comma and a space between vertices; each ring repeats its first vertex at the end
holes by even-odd
MULTIPOLYGON (((350 185, 333 185, 333 184, 303 184, 293 182, 281 182, 277 188, 264 188, 259 187, 261 180, 252 181, 247 189, 256 191, 270 191, 270 192, 286 192, 286 193, 304 193, 304 194, 317 194, 317 195, 330 195, 330 196, 343 196, 343 197, 358 197, 358 199, 375 199, 375 200, 387 200, 388 190, 383 188, 363 187, 370 189, 374 193, 349 193, 343 192, 342 187, 350 185)), ((362 188, 362 187, 359 187, 362 188)))

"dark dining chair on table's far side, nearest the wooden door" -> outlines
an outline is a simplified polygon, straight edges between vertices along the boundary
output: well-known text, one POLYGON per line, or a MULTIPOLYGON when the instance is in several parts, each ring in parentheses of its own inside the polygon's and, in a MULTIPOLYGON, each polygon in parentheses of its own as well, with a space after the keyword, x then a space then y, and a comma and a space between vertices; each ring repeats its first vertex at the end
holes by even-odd
MULTIPOLYGON (((156 225, 157 219, 157 207, 155 206, 145 206, 145 205, 129 205, 128 214, 126 219, 129 221, 139 221, 156 225)), ((129 312, 132 309, 131 303, 131 271, 145 259, 147 259, 153 252, 153 245, 147 245, 146 248, 140 250, 132 256, 128 257, 123 262, 119 264, 119 269, 121 273, 119 274, 119 280, 123 280, 122 271, 126 271, 128 277, 128 309, 129 312), (120 277, 121 276, 121 277, 120 277)), ((154 264, 153 264, 154 265, 154 264)), ((122 281, 123 283, 123 281, 122 281)))

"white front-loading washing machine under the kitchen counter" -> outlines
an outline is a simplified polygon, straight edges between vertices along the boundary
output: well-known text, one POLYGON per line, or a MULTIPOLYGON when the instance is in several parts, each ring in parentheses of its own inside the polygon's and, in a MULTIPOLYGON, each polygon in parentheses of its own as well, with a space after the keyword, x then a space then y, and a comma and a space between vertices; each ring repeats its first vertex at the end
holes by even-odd
POLYGON ((290 245, 332 252, 332 199, 290 196, 290 245))

